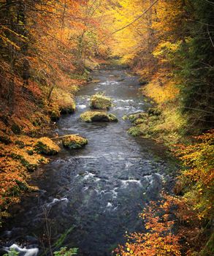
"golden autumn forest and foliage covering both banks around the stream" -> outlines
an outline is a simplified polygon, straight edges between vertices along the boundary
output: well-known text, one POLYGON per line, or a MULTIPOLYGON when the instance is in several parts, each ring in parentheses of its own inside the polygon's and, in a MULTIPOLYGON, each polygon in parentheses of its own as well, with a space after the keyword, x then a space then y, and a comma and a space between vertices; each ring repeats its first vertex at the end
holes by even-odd
POLYGON ((0 44, 1 225, 60 151, 44 135, 74 113, 93 69, 116 63, 153 105, 126 117, 129 135, 166 145, 180 171, 140 214, 145 233, 124 234, 115 255, 214 254, 214 1, 1 0, 0 44))

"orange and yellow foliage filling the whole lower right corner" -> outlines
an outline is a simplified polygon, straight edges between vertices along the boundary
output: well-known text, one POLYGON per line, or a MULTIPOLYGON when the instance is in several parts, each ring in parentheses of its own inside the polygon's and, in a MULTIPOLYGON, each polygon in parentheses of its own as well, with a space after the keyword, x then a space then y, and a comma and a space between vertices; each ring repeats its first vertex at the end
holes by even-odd
POLYGON ((117 255, 193 256, 206 244, 203 224, 212 221, 214 213, 214 130, 194 139, 191 145, 175 149, 186 166, 175 187, 178 194, 183 190, 183 196, 163 195, 163 200, 150 203, 140 214, 146 232, 127 235, 117 255))

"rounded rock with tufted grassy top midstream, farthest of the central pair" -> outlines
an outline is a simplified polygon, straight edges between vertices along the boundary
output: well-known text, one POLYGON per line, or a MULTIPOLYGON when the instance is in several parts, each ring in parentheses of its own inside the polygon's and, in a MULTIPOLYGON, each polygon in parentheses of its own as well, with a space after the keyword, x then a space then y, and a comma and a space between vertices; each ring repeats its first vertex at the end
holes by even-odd
POLYGON ((97 110, 109 110, 112 106, 112 100, 98 93, 91 96, 91 108, 97 110))

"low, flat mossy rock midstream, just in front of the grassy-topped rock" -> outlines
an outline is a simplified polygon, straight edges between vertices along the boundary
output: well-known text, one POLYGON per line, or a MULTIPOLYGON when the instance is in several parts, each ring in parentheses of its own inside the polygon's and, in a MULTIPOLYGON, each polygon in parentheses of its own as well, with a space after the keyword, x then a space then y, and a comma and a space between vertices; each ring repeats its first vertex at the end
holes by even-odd
POLYGON ((118 118, 116 118, 115 115, 102 111, 87 111, 81 114, 80 118, 86 123, 91 123, 93 121, 118 121, 118 118))

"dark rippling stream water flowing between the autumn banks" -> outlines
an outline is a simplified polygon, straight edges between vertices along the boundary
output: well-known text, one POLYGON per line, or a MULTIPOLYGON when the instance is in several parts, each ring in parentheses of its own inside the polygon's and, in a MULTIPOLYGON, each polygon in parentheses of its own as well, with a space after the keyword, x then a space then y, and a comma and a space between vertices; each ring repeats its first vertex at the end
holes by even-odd
POLYGON ((76 113, 63 116, 55 131, 83 135, 88 146, 63 149, 34 173, 39 192, 23 198, 4 227, 4 246, 19 244, 20 255, 37 255, 35 248, 41 254, 41 241, 47 246, 49 238, 63 237, 63 245, 80 248, 79 255, 111 255, 126 231, 142 230, 138 215, 156 200, 175 167, 163 146, 126 132, 131 124, 122 117, 149 108, 137 77, 129 70, 109 68, 94 71, 93 79, 96 83, 77 95, 76 113), (118 123, 80 121, 80 114, 89 110, 90 96, 99 91, 113 99, 110 113, 115 113, 118 123))

